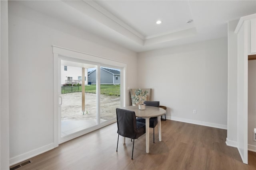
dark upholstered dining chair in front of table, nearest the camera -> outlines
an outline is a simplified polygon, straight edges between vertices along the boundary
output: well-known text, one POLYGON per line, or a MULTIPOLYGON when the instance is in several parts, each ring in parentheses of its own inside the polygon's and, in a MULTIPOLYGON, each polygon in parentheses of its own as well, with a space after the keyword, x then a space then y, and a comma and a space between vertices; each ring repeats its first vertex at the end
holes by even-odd
POLYGON ((116 119, 117 119, 117 146, 116 152, 118 148, 118 140, 119 135, 122 137, 128 137, 133 139, 132 145, 132 159, 133 159, 133 149, 134 149, 134 139, 138 139, 141 135, 146 133, 146 125, 142 122, 136 121, 136 115, 134 111, 119 109, 116 108, 116 119))

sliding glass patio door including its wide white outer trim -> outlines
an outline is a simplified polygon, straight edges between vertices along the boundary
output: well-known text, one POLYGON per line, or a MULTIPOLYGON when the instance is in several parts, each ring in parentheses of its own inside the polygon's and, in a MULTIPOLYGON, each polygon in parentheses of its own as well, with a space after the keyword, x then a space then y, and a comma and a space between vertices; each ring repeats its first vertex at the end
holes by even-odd
POLYGON ((126 98, 126 64, 53 47, 54 147, 116 122, 126 98))

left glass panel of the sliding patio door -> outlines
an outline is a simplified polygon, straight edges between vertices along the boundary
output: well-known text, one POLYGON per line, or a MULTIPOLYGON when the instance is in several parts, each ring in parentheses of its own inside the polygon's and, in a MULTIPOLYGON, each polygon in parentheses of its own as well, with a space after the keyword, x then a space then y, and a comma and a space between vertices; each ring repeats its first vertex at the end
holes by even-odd
POLYGON ((95 65, 61 60, 61 137, 98 124, 96 85, 88 79, 92 71, 95 65))

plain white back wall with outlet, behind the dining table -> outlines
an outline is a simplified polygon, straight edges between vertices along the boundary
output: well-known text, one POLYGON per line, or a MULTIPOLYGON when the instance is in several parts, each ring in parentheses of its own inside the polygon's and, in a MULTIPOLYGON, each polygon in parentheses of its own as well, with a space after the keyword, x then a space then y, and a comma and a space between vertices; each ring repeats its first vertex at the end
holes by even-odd
POLYGON ((221 38, 139 53, 138 85, 153 89, 168 119, 226 129, 227 45, 221 38))

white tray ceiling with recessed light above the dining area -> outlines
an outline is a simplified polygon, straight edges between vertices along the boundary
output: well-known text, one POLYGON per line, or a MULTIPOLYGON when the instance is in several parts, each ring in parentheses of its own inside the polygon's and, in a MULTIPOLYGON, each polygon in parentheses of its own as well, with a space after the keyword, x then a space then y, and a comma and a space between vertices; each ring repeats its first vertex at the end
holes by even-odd
POLYGON ((246 1, 19 1, 136 52, 227 37, 227 23, 256 13, 246 1), (162 24, 157 25, 156 21, 162 24), (193 20, 187 24, 188 20, 193 20))

